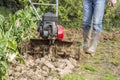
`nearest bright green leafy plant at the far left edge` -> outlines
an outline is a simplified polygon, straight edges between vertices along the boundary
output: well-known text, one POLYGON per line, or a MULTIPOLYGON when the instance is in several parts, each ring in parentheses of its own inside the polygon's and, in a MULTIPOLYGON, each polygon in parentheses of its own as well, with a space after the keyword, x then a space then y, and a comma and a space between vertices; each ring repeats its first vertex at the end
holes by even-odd
POLYGON ((9 68, 9 63, 12 62, 16 56, 23 61, 18 53, 17 42, 12 34, 13 26, 7 31, 4 29, 5 18, 0 15, 0 80, 6 80, 6 72, 9 68))

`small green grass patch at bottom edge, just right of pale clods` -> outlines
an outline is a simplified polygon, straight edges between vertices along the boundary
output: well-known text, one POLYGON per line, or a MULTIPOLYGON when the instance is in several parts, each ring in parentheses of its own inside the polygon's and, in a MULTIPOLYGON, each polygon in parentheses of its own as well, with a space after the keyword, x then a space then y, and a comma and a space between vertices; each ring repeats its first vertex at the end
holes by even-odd
POLYGON ((79 76, 77 73, 64 75, 61 80, 86 80, 84 76, 79 76))

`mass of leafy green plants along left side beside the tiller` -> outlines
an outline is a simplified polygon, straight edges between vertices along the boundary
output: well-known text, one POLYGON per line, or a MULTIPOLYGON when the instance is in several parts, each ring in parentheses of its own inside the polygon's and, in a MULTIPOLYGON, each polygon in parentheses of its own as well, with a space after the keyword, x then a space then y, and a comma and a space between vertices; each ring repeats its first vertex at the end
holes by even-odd
POLYGON ((36 18, 31 7, 19 10, 14 15, 9 14, 8 18, 0 15, 0 80, 7 79, 9 63, 15 58, 24 63, 18 46, 24 39, 36 36, 29 34, 31 29, 35 29, 35 25, 36 18))

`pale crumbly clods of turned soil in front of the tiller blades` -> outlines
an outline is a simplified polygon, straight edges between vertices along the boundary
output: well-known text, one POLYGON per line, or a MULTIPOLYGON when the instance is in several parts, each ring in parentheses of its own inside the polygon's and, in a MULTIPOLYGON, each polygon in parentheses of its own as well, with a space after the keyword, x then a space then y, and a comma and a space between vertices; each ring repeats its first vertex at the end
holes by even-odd
POLYGON ((46 55, 34 59, 30 55, 24 56, 25 64, 13 63, 8 74, 10 80, 59 80, 59 76, 72 73, 76 60, 51 58, 46 55), (56 74, 57 76, 54 76, 56 74))

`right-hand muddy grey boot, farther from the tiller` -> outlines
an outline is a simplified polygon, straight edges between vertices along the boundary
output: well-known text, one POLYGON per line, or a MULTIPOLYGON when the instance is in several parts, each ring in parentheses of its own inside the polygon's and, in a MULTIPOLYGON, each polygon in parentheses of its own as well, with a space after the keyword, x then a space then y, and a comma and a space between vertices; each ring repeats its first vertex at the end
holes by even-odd
POLYGON ((92 41, 91 41, 91 46, 89 47, 89 49, 86 51, 87 53, 89 53, 91 56, 94 56, 94 53, 96 51, 97 48, 97 44, 100 38, 100 32, 96 32, 94 31, 92 34, 92 41))

